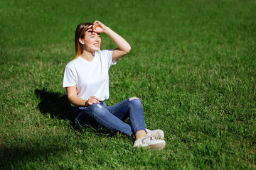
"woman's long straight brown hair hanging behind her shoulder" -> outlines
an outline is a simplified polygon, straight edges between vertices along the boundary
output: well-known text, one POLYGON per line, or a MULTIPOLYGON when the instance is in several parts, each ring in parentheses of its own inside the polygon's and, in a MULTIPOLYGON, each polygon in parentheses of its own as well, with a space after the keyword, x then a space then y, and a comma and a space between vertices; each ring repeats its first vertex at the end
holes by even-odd
POLYGON ((85 32, 87 31, 89 26, 92 26, 93 23, 80 23, 78 27, 75 29, 75 60, 80 55, 82 55, 82 44, 79 42, 79 38, 85 37, 85 32))

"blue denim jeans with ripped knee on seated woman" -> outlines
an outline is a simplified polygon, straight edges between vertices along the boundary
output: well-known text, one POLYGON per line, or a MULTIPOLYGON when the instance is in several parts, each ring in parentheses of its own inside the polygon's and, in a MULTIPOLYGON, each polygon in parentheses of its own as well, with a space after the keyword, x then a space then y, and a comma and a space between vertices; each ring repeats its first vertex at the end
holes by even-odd
POLYGON ((132 132, 136 135, 138 130, 146 130, 142 103, 137 97, 128 98, 113 106, 100 101, 100 104, 95 103, 87 108, 74 108, 73 116, 76 129, 89 125, 93 128, 103 126, 129 136, 132 132), (129 124, 124 123, 128 117, 129 124))

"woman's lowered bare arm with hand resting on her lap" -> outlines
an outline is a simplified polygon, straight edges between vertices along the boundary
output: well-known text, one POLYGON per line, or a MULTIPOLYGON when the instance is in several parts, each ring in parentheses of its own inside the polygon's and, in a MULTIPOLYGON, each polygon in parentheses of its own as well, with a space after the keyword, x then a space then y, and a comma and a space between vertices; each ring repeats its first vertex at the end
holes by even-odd
POLYGON ((90 96, 88 100, 83 100, 82 98, 79 98, 77 94, 76 86, 66 87, 66 90, 68 94, 68 101, 70 101, 70 103, 72 103, 75 106, 87 107, 92 105, 93 103, 100 103, 99 101, 100 99, 97 98, 96 96, 90 96))

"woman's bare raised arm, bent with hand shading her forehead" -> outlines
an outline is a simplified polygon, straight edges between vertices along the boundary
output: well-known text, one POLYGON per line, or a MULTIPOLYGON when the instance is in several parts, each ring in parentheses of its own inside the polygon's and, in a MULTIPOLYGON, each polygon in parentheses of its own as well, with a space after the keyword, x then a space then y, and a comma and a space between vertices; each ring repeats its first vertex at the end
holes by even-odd
POLYGON ((93 31, 96 33, 106 33, 114 41, 114 43, 116 43, 117 48, 113 51, 112 60, 117 60, 120 57, 127 55, 131 50, 131 46, 126 40, 124 40, 124 38, 105 26, 100 21, 95 21, 95 23, 93 23, 93 31))

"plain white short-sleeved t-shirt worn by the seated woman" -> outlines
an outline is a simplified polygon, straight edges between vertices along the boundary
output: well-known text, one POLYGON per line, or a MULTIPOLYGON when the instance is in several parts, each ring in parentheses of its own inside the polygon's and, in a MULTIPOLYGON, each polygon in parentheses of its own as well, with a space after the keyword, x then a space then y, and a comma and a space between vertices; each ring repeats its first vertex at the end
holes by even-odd
POLYGON ((78 97, 84 100, 90 96, 96 96, 100 101, 109 98, 108 71, 117 62, 112 62, 112 53, 113 50, 100 50, 95 52, 92 62, 82 57, 69 62, 65 67, 63 88, 76 85, 78 97))

